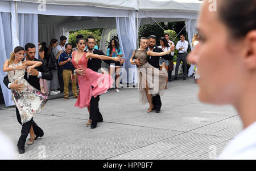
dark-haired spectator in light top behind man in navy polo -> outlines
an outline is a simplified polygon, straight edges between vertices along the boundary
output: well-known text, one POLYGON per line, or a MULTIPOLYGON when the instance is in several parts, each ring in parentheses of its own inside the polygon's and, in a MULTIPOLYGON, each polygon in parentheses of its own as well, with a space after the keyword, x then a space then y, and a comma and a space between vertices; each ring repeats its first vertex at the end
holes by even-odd
POLYGON ((54 51, 53 51, 54 57, 57 60, 56 63, 57 63, 57 68, 58 68, 57 70, 58 70, 58 79, 59 79, 59 85, 60 85, 60 92, 64 91, 64 87, 63 87, 64 83, 63 83, 63 68, 62 68, 62 66, 59 66, 58 61, 59 61, 60 54, 65 51, 66 41, 67 41, 67 37, 60 36, 60 44, 57 45, 54 48, 54 51))

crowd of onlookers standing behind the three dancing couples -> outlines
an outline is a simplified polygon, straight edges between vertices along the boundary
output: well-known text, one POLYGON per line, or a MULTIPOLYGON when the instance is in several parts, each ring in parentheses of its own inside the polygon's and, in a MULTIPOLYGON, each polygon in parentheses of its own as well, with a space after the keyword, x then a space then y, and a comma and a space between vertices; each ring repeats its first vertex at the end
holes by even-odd
MULTIPOLYGON (((193 41, 191 44, 191 50, 198 44, 199 40, 199 33, 195 34, 193 37, 193 41)), ((150 38, 148 37, 148 44, 149 44, 150 38)), ((161 37, 160 45, 155 45, 155 48, 162 49, 163 52, 171 50, 171 53, 168 54, 168 57, 166 58, 159 58, 159 65, 162 65, 163 62, 166 63, 166 70, 168 71, 168 78, 166 82, 172 82, 172 71, 174 70, 174 55, 175 55, 175 49, 178 50, 177 53, 177 62, 175 67, 175 80, 177 80, 177 75, 179 71, 179 65, 181 61, 183 63, 187 63, 187 50, 189 43, 185 40, 185 35, 180 35, 180 41, 177 42, 176 46, 174 42, 170 40, 170 35, 166 33, 164 37, 161 37)), ((73 96, 77 98, 77 91, 79 91, 79 88, 77 88, 76 79, 71 80, 71 70, 69 69, 69 66, 71 65, 72 60, 72 52, 76 51, 76 47, 72 47, 71 44, 67 43, 67 37, 61 36, 60 41, 58 44, 57 39, 52 39, 49 42, 49 46, 47 47, 46 42, 38 42, 38 54, 39 59, 42 59, 44 63, 47 65, 49 70, 51 71, 53 78, 51 81, 40 79, 40 86, 41 90, 44 93, 47 93, 47 95, 57 95, 59 93, 64 93, 64 100, 68 99, 69 95, 69 82, 72 83, 72 91, 73 96)), ((87 49, 87 46, 85 50, 87 49)), ((98 49, 98 46, 95 45, 94 49, 98 49)), ((110 44, 107 49, 107 54, 110 57, 122 57, 122 50, 119 46, 118 40, 111 39, 110 44)), ((119 76, 120 76, 120 70, 122 65, 117 65, 117 63, 110 63, 109 65, 109 74, 113 77, 115 77, 114 85, 112 85, 111 88, 115 88, 116 92, 119 92, 119 87, 122 87, 122 84, 120 84, 119 76)), ((191 76, 194 74, 195 65, 191 65, 189 70, 187 69, 187 65, 182 66, 183 70, 183 80, 188 76, 191 76)), ((166 86, 167 89, 167 86, 166 86)), ((108 92, 108 91, 106 91, 108 92)), ((105 92, 105 93, 106 93, 105 92)))

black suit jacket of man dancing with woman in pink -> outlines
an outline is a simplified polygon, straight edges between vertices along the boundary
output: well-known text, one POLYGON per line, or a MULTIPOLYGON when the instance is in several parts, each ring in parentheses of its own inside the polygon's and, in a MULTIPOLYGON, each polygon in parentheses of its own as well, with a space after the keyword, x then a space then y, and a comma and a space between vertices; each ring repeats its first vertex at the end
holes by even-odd
MULTIPOLYGON (((102 52, 102 50, 97 50, 97 49, 93 49, 93 54, 105 55, 102 52)), ((92 59, 88 60, 88 63, 87 63, 88 69, 98 72, 98 70, 101 68, 101 61, 108 63, 108 65, 110 65, 110 63, 115 63, 115 61, 111 61, 111 60, 101 60, 101 59, 97 59, 97 58, 92 58, 92 59)), ((120 63, 119 63, 119 65, 120 65, 120 63)), ((72 72, 74 72, 75 67, 72 64, 70 65, 69 68, 72 70, 72 72)))

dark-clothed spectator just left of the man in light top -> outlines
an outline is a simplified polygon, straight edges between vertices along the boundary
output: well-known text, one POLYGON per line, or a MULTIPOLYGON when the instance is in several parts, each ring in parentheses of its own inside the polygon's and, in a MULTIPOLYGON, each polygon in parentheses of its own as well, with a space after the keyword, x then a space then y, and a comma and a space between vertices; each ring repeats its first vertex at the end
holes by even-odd
POLYGON ((53 54, 53 49, 58 45, 58 40, 57 39, 52 39, 47 54, 49 55, 49 63, 48 63, 48 68, 50 72, 52 73, 52 80, 47 81, 48 89, 50 89, 50 95, 57 95, 60 93, 60 91, 57 91, 59 86, 59 79, 58 79, 58 71, 57 71, 57 62, 56 58, 54 57, 53 54))

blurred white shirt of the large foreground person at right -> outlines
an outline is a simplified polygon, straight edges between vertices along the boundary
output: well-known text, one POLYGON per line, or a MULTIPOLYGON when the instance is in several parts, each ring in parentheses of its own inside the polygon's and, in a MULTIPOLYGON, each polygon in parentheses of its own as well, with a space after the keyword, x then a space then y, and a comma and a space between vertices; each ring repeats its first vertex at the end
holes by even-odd
POLYGON ((256 159, 256 122, 252 123, 225 147, 218 160, 256 159))

